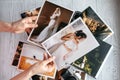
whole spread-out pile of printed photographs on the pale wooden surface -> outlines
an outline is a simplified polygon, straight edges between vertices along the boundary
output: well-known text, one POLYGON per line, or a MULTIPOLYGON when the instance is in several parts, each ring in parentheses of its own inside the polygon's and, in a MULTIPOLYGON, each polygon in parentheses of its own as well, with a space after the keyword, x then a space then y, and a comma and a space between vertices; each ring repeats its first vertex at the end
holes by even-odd
POLYGON ((31 44, 19 42, 13 66, 26 70, 43 60, 43 53, 47 52, 56 57, 54 70, 40 74, 48 80, 54 80, 51 78, 55 78, 56 71, 68 67, 68 64, 70 69, 80 70, 80 80, 86 80, 86 73, 98 77, 112 48, 104 41, 113 31, 91 7, 80 12, 44 1, 41 7, 21 14, 22 18, 31 16, 38 16, 38 27, 27 31, 27 41, 31 44))

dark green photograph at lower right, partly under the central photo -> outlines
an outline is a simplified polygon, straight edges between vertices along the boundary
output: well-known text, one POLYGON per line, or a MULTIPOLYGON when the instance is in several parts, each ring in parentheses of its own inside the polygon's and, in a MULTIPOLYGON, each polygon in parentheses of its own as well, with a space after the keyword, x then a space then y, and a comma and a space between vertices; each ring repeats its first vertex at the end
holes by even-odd
POLYGON ((88 54, 76 60, 73 65, 79 69, 82 69, 94 78, 99 75, 103 64, 110 54, 112 46, 102 40, 98 40, 100 46, 92 50, 88 54))

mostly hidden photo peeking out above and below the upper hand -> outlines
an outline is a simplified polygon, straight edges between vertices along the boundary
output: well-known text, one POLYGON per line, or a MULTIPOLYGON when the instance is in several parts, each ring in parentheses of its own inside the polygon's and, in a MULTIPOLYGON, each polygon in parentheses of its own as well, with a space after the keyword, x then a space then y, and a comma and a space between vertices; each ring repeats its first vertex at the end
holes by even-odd
MULTIPOLYGON (((25 11, 25 12, 21 13, 21 17, 26 18, 26 17, 31 17, 31 16, 38 16, 39 11, 40 11, 40 7, 32 9, 30 11, 25 11)), ((26 33, 27 33, 28 36, 30 35, 31 31, 32 31, 32 29, 27 29, 26 30, 26 33)))

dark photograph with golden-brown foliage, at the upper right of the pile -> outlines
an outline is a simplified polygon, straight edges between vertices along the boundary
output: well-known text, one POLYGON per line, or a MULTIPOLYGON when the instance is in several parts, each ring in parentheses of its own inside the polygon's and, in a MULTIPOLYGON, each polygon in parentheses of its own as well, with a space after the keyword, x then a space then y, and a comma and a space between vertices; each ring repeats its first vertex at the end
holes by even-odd
POLYGON ((75 13, 72 21, 77 17, 82 17, 83 21, 86 23, 93 35, 101 40, 107 39, 110 35, 113 34, 112 29, 104 23, 104 21, 96 14, 96 12, 88 7, 81 14, 75 13))

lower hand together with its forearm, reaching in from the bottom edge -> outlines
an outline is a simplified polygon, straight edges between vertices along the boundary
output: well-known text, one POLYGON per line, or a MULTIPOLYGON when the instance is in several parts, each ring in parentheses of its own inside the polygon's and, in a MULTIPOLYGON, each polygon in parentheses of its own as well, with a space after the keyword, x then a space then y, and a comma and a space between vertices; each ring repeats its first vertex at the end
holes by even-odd
POLYGON ((35 63, 30 68, 16 75, 10 80, 29 80, 29 78, 31 78, 33 75, 52 72, 52 70, 55 68, 55 65, 53 63, 54 59, 55 57, 48 58, 48 55, 44 54, 43 61, 35 63))

